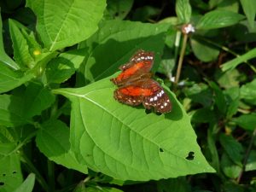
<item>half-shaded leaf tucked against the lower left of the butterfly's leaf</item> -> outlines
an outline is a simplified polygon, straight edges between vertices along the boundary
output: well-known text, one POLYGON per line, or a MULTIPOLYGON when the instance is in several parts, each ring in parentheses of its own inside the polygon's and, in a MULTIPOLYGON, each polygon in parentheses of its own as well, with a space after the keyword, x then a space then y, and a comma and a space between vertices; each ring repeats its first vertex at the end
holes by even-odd
POLYGON ((79 164, 69 143, 69 128, 60 120, 44 122, 36 139, 40 151, 57 164, 87 173, 87 166, 79 164))

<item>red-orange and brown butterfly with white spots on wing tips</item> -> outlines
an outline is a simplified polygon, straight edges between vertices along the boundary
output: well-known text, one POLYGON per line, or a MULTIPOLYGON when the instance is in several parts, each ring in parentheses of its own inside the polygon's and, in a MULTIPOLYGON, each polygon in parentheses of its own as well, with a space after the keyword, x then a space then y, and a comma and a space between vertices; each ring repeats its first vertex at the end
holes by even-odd
POLYGON ((130 106, 143 103, 144 108, 154 108, 158 113, 170 112, 172 103, 169 96, 159 83, 151 79, 153 63, 154 52, 137 50, 130 61, 119 67, 122 72, 110 79, 118 86, 113 93, 114 99, 130 106))

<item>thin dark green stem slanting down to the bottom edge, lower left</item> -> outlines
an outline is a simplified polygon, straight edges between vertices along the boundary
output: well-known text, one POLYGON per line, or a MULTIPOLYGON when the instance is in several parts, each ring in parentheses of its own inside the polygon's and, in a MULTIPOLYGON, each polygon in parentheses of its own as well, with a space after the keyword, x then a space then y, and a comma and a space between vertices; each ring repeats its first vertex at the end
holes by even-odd
POLYGON ((44 191, 50 192, 49 186, 46 183, 46 181, 44 180, 44 177, 40 174, 40 172, 38 172, 37 168, 35 166, 33 166, 32 162, 26 157, 26 154, 24 154, 24 153, 20 153, 20 154, 21 154, 21 158, 22 158, 23 162, 25 163, 25 166, 27 167, 27 169, 36 174, 36 179, 37 179, 38 183, 40 183, 40 185, 42 186, 44 191))

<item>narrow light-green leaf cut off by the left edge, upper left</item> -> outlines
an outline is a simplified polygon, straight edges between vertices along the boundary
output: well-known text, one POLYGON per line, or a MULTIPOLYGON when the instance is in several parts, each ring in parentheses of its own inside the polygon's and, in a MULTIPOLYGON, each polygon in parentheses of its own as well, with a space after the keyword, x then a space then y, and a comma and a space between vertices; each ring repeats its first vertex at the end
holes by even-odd
MULTIPOLYGON (((9 57, 9 55, 7 55, 5 53, 4 46, 3 46, 3 36, 2 36, 3 30, 2 30, 2 28, 3 28, 3 23, 2 23, 2 17, 0 15, 0 32, 1 32, 1 35, 0 35, 0 64, 6 65, 7 67, 18 70, 18 69, 20 69, 19 65, 17 63, 15 63, 15 61, 13 61, 9 57)), ((0 72, 1 72, 1 70, 0 70, 0 72)), ((1 79, 0 79, 0 82, 1 82, 1 79)))

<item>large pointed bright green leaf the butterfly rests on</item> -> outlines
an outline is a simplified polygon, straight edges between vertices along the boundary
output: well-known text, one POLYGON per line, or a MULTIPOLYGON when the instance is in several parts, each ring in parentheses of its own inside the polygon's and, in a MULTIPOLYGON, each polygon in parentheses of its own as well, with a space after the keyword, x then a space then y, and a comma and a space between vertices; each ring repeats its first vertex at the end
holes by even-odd
POLYGON ((113 90, 109 78, 54 90, 72 102, 71 145, 90 169, 137 181, 214 172, 196 143, 189 116, 171 92, 166 90, 172 112, 158 116, 115 101, 113 90))

